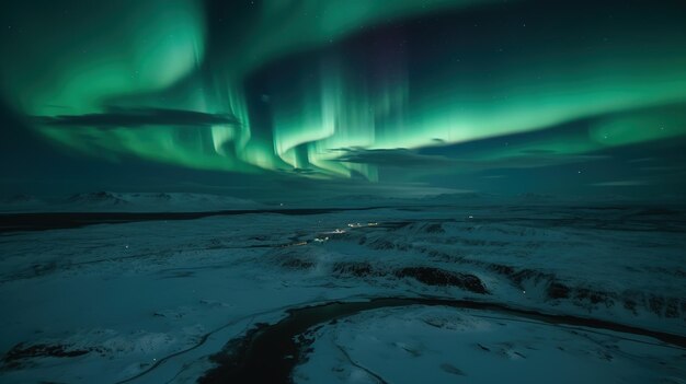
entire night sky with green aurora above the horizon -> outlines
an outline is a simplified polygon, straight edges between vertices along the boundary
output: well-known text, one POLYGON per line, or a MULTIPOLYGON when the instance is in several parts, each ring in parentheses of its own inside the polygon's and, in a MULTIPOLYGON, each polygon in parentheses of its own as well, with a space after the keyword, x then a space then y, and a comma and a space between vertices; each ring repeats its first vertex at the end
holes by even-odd
POLYGON ((3 195, 686 191, 683 1, 4 1, 3 195))

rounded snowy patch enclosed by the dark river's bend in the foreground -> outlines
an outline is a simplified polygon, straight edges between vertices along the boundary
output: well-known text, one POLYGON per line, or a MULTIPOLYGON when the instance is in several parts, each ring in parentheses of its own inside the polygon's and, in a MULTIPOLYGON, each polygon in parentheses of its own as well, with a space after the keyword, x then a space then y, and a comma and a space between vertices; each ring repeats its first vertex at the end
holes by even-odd
POLYGON ((386 309, 312 331, 302 383, 678 383, 648 338, 447 307, 386 309))

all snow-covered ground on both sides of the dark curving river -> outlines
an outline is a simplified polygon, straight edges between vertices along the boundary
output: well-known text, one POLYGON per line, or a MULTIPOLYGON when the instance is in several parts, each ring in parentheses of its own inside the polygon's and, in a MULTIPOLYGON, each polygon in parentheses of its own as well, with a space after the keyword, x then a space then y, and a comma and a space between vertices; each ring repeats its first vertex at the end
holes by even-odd
MULTIPOLYGON (((682 208, 473 205, 4 233, 0 382, 194 382, 209 356, 288 309, 378 296, 491 301, 684 336, 685 232, 682 208)), ((554 371, 686 383, 686 351, 662 341, 485 315, 361 313, 310 333, 294 379, 547 383, 554 371)))

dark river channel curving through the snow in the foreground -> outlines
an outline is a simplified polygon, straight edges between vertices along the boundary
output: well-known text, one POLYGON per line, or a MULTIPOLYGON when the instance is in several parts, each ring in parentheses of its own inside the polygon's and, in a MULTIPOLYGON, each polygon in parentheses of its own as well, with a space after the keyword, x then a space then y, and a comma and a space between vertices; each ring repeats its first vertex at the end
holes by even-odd
MULTIPOLYGON (((649 336, 674 348, 686 348, 686 337, 653 331, 601 319, 569 315, 551 315, 529 310, 513 309, 496 303, 448 299, 374 299, 367 302, 331 302, 288 311, 288 316, 274 325, 261 324, 243 338, 233 339, 225 350, 213 356, 218 364, 198 383, 291 383, 291 372, 300 363, 306 345, 299 336, 317 325, 356 315, 364 311, 409 305, 443 305, 455 309, 489 311, 514 315, 541 325, 583 326, 598 330, 614 330, 649 336)), ((634 340, 637 342, 645 342, 634 340)))

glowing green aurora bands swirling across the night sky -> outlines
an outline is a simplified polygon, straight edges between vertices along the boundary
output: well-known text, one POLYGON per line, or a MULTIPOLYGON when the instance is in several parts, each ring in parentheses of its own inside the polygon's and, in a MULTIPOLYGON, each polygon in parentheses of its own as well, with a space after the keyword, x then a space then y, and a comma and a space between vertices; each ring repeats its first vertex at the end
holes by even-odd
POLYGON ((2 5, 14 31, 0 40, 2 57, 12 58, 0 90, 41 136, 115 162, 378 181, 378 164, 345 154, 454 148, 590 121, 572 133, 481 149, 469 159, 480 166, 455 167, 468 172, 523 153, 565 162, 686 135, 686 11, 678 3, 648 14, 647 4, 628 7, 613 18, 530 2, 508 5, 516 16, 506 16, 500 3, 468 0, 66 7, 72 3, 2 5), (436 15, 453 18, 451 42, 439 28, 433 44, 413 32, 436 15), (375 40, 381 49, 365 46, 375 40), (235 119, 45 123, 127 108, 235 119))

